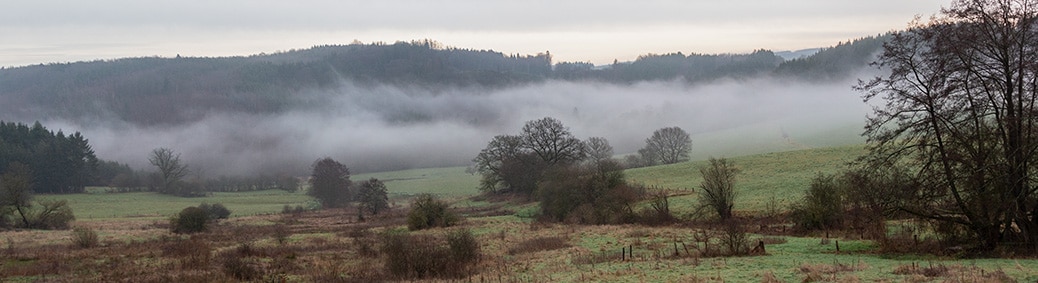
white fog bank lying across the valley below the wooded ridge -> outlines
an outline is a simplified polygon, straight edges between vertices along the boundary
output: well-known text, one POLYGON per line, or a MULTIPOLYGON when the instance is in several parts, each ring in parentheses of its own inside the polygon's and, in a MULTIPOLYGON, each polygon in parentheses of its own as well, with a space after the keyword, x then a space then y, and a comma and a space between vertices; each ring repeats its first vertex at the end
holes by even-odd
POLYGON ((681 126, 700 158, 858 142, 853 135, 868 107, 850 86, 772 79, 696 86, 550 81, 449 91, 345 84, 296 93, 302 106, 278 114, 204 113, 165 128, 42 121, 79 131, 99 158, 138 169, 152 170, 152 149, 172 148, 202 176, 306 174, 323 157, 354 172, 465 166, 493 136, 517 134, 544 116, 581 139, 608 139, 618 153, 637 150, 656 129, 681 126))

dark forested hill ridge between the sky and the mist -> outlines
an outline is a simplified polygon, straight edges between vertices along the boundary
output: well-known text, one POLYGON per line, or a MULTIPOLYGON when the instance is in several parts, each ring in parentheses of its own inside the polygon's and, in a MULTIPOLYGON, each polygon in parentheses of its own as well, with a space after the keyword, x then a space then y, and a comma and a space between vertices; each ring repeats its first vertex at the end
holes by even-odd
POLYGON ((6 119, 117 118, 134 124, 175 124, 212 111, 276 113, 312 91, 349 82, 433 89, 499 88, 545 80, 628 84, 781 74, 834 80, 864 67, 882 37, 869 37, 784 61, 770 51, 750 54, 645 55, 594 66, 552 62, 551 54, 509 55, 443 48, 431 40, 324 46, 248 57, 127 58, 0 69, 0 112, 6 119))

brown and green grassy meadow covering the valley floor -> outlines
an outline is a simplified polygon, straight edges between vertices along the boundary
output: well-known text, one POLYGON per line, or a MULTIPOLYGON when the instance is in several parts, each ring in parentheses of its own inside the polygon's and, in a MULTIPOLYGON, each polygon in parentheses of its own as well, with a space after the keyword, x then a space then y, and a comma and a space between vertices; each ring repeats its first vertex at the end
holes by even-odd
MULTIPOLYGON (((741 170, 737 215, 785 208, 801 197, 812 177, 836 172, 861 152, 861 146, 838 146, 732 157, 741 170)), ((671 205, 681 217, 696 204, 699 168, 704 164, 699 160, 626 173, 633 182, 673 190, 671 205)), ((0 276, 5 281, 90 282, 384 279, 385 259, 372 254, 378 235, 404 227, 410 196, 432 193, 454 201, 456 210, 466 216, 459 227, 471 230, 481 244, 483 257, 468 281, 1038 281, 1038 260, 1030 258, 890 255, 852 235, 793 236, 768 229, 749 231, 753 243, 767 242, 766 255, 701 257, 694 251, 710 244, 701 243, 696 234, 709 233, 709 227, 539 223, 530 217, 536 204, 471 199, 479 193, 479 176, 461 167, 357 174, 353 180, 371 177, 385 181, 397 208, 367 222, 358 222, 352 209, 280 214, 284 205, 309 205, 312 200, 303 192, 214 193, 201 198, 101 192, 40 196, 69 200, 77 216, 73 226, 94 229, 100 244, 78 248, 70 231, 0 232, 7 243, 0 249, 0 276), (191 236, 168 231, 169 216, 201 202, 224 204, 231 219, 191 236), (632 251, 621 256, 626 248, 632 251), (254 274, 239 277, 235 266, 254 274)), ((435 238, 456 229, 412 233, 435 238)))

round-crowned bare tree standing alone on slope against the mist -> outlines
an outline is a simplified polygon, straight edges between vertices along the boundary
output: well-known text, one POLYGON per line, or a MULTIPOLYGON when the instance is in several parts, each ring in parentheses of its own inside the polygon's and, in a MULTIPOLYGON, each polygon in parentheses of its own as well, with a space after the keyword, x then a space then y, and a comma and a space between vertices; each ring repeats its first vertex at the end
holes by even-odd
POLYGON ((692 139, 684 130, 678 126, 663 128, 652 133, 646 139, 646 147, 638 150, 646 165, 675 164, 688 161, 688 151, 692 149, 692 139))

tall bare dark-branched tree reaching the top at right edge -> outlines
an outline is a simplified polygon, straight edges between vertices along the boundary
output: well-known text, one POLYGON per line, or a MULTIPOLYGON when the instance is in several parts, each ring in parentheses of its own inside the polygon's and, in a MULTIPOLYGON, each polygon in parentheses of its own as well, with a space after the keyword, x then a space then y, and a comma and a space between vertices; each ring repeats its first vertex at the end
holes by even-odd
POLYGON ((956 0, 895 33, 862 82, 873 168, 917 183, 898 209, 966 231, 979 250, 1038 251, 1038 0, 956 0))

